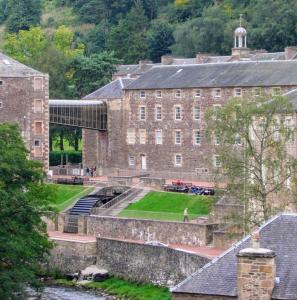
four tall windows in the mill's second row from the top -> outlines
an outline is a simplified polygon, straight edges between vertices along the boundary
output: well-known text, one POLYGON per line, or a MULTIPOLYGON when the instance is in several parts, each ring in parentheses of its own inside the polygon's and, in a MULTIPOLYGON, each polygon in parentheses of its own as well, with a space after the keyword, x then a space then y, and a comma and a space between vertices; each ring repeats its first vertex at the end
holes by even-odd
MULTIPOLYGON (((139 120, 145 121, 146 117, 147 117, 146 106, 139 106, 139 120)), ((173 117, 176 121, 182 120, 182 106, 181 105, 174 106, 173 117)), ((197 104, 197 105, 193 106, 193 119, 200 120, 200 118, 201 118, 201 108, 200 108, 200 105, 197 104)), ((162 121, 162 119, 163 119, 162 106, 156 105, 155 106, 155 120, 162 121)))

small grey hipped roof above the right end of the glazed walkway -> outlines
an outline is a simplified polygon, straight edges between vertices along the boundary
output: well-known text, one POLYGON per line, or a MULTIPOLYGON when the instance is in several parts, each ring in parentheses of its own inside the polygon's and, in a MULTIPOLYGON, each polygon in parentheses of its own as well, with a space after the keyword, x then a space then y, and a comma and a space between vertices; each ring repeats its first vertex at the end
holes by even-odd
POLYGON ((123 97, 123 88, 133 82, 135 79, 132 78, 119 78, 107 85, 101 87, 95 92, 85 96, 83 99, 119 99, 123 97))

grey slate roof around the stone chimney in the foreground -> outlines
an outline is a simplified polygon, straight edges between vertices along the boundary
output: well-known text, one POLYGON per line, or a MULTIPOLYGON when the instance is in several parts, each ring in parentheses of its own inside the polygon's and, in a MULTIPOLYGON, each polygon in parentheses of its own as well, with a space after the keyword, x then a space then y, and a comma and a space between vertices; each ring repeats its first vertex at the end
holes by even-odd
MULTIPOLYGON (((297 215, 282 214, 260 228, 261 247, 276 253, 276 277, 272 299, 296 300, 297 295, 297 215)), ((173 292, 220 295, 237 295, 237 257, 244 248, 251 247, 248 236, 215 258, 185 281, 177 285, 173 292)))

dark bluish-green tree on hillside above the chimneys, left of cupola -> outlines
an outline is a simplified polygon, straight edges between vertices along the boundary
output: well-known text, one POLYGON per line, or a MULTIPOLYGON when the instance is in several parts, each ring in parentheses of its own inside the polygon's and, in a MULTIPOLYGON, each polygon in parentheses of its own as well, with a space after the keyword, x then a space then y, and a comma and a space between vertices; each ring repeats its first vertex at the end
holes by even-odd
POLYGON ((149 57, 159 62, 162 55, 171 53, 170 46, 174 43, 173 30, 168 23, 157 21, 148 34, 149 57))

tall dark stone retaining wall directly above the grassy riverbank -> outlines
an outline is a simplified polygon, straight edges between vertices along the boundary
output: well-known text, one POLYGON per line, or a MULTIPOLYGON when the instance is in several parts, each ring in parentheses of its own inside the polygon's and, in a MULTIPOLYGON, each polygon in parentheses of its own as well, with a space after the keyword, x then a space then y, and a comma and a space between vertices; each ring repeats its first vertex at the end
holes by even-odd
POLYGON ((209 262, 168 247, 97 238, 97 266, 134 281, 174 286, 209 262))

